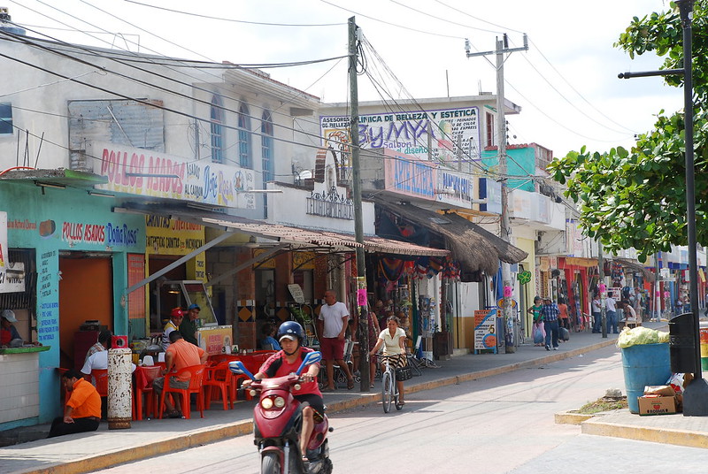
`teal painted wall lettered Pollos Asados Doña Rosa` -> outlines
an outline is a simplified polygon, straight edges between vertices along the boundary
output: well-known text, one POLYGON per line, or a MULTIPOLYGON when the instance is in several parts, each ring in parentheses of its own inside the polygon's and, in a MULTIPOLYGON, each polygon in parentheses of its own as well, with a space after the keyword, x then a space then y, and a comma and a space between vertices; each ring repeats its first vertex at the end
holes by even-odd
MULTIPOLYGON (((7 212, 10 248, 35 248, 37 334, 50 350, 39 358, 40 416, 49 423, 62 413, 59 400, 59 252, 112 253, 113 327, 127 334, 127 253, 145 253, 145 219, 112 212, 119 200, 88 195, 85 190, 32 184, 0 183, 0 210, 7 212)), ((90 291, 91 288, 87 288, 90 291)), ((10 422, 17 424, 17 422, 10 422)), ((9 425, 9 424, 8 424, 9 425)), ((9 426, 10 427, 10 426, 9 426)), ((0 424, 3 430, 4 424, 0 424)))

